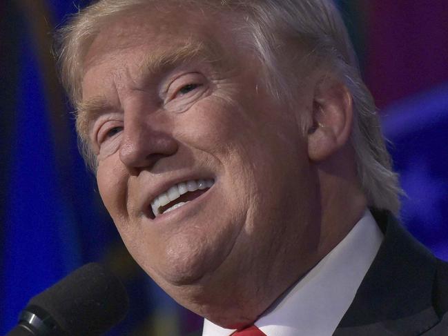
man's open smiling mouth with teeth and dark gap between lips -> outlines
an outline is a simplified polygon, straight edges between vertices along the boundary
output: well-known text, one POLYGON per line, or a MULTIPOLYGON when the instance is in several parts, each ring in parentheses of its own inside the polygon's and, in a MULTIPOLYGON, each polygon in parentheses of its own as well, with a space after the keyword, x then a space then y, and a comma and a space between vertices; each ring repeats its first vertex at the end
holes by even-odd
POLYGON ((193 179, 175 184, 151 201, 153 218, 193 201, 215 184, 213 179, 193 179))

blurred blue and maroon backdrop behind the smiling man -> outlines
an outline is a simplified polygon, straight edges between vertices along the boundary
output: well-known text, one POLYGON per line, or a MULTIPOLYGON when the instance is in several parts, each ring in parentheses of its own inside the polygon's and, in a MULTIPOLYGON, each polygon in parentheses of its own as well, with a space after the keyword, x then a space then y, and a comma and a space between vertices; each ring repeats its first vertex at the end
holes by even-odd
MULTIPOLYGON (((30 297, 99 261, 119 275, 131 302, 108 335, 185 335, 202 319, 129 257, 77 151, 51 34, 88 2, 0 1, 0 334, 30 297)), ((448 1, 338 5, 407 192, 402 221, 448 260, 448 1)))

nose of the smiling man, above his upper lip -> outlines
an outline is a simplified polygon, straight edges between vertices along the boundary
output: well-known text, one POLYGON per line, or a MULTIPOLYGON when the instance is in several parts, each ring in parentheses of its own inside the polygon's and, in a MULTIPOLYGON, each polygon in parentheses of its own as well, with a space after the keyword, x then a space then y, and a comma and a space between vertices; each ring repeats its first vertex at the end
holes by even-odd
POLYGON ((156 125, 155 122, 125 118, 119 157, 133 175, 153 168, 159 160, 177 152, 178 144, 170 130, 156 125))

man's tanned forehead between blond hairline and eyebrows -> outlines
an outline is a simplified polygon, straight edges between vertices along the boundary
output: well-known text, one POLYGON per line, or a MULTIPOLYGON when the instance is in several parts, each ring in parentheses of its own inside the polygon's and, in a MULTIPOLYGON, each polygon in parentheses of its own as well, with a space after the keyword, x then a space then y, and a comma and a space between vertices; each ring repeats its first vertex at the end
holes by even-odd
MULTIPOLYGON (((136 47, 144 52, 146 59, 157 59, 170 51, 182 55, 179 51, 184 50, 192 54, 194 50, 191 49, 222 55, 220 49, 231 48, 228 32, 234 26, 228 22, 230 19, 220 12, 173 4, 126 10, 103 24, 84 58, 84 73, 90 66, 113 55, 131 49, 135 52, 136 47), (223 30, 226 33, 222 33, 223 30), (199 46, 201 48, 197 48, 199 46)), ((146 59, 140 59, 139 66, 146 66, 146 59)))

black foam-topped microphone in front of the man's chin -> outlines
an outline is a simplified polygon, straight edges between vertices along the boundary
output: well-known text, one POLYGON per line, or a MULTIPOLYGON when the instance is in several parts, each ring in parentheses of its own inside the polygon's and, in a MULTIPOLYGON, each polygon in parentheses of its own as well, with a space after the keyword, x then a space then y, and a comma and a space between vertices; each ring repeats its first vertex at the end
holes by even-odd
POLYGON ((128 306, 119 279, 90 263, 32 297, 6 336, 97 336, 120 322, 128 306))

